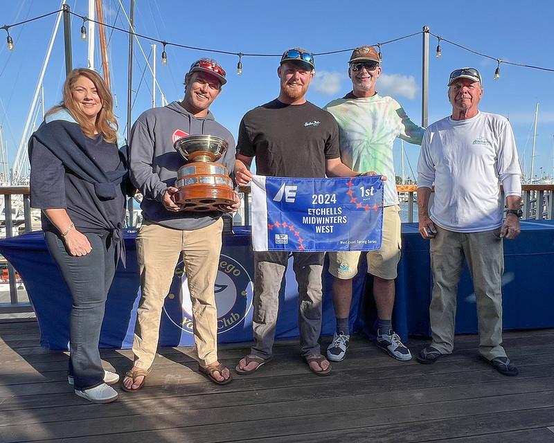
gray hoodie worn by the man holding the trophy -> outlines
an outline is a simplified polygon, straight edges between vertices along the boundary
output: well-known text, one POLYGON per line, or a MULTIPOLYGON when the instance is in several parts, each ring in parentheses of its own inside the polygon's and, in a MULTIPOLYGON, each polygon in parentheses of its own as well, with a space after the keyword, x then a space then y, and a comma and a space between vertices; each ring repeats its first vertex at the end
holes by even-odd
POLYGON ((229 143, 227 152, 218 160, 229 173, 235 164, 235 140, 231 132, 217 123, 208 111, 204 118, 196 118, 179 102, 143 112, 136 120, 129 138, 129 172, 134 185, 144 198, 141 203, 145 221, 183 230, 204 228, 222 215, 219 211, 173 213, 161 203, 168 186, 175 186, 177 170, 184 165, 183 157, 175 150, 177 139, 198 134, 224 138, 229 143))

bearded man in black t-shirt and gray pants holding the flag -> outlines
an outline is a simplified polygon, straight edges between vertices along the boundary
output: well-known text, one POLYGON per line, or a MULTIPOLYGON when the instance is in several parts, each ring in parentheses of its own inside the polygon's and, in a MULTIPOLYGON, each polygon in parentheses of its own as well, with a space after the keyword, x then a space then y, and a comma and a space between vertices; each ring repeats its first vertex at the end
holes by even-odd
MULTIPOLYGON (((240 186, 252 179, 256 156, 258 174, 269 177, 355 177, 341 163, 339 129, 333 116, 312 105, 305 93, 314 78, 314 56, 301 48, 285 51, 277 74, 276 100, 256 107, 240 122, 235 178, 240 186)), ((370 174, 370 173, 368 173, 370 174)), ((327 375, 331 365, 321 355, 321 271, 325 253, 292 253, 298 282, 301 352, 310 370, 327 375)), ((287 269, 288 252, 254 253, 254 344, 236 370, 250 374, 272 358, 279 290, 287 269)))

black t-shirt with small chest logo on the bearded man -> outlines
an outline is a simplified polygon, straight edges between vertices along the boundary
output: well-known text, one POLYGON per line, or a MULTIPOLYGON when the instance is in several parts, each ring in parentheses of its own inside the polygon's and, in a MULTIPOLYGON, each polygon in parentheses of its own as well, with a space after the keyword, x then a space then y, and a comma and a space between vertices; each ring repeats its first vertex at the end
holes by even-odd
POLYGON ((325 177, 325 160, 337 159, 339 127, 310 102, 273 100, 247 112, 240 122, 237 151, 256 156, 256 173, 268 177, 325 177))

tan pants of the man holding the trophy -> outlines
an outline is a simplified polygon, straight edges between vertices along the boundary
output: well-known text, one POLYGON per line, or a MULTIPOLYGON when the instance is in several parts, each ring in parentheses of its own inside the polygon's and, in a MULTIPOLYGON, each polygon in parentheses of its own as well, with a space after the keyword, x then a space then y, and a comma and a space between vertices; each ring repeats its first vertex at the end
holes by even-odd
POLYGON ((217 361, 217 309, 214 285, 222 245, 222 219, 206 228, 179 230, 146 222, 136 237, 142 296, 136 312, 134 365, 148 369, 159 340, 163 301, 170 290, 175 266, 183 262, 193 303, 193 333, 199 363, 217 361))

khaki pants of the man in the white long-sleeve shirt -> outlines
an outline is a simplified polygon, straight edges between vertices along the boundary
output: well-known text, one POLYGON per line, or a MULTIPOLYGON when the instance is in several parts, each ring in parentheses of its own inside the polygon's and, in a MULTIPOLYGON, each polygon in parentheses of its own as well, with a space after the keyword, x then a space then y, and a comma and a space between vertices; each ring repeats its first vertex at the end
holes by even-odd
POLYGON ((465 257, 477 302, 479 352, 488 360, 506 356, 502 347, 504 253, 500 228, 481 233, 455 233, 438 226, 436 229, 436 237, 431 239, 431 346, 442 354, 454 350, 456 296, 465 257))

